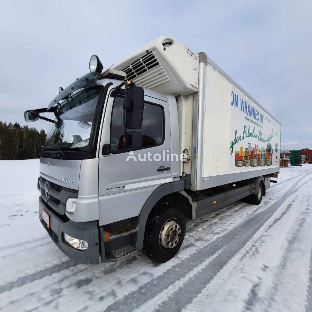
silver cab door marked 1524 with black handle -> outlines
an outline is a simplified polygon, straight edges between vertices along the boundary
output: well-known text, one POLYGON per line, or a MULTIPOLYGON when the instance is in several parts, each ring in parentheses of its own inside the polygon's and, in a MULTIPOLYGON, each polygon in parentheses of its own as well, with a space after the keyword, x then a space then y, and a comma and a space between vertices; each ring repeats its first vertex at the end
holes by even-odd
POLYGON ((171 135, 167 101, 144 96, 142 149, 101 154, 104 144, 122 147, 123 96, 109 96, 102 129, 99 160, 100 225, 138 216, 149 196, 161 184, 172 182, 171 135))

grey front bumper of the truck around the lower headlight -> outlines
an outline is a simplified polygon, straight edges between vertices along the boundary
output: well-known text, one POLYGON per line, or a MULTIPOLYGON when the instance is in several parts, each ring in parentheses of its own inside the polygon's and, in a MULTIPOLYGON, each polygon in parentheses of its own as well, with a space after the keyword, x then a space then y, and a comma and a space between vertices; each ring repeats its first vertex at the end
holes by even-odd
POLYGON ((41 196, 39 197, 39 220, 52 240, 66 256, 79 263, 99 263, 99 229, 96 221, 73 222, 69 220, 64 222, 47 207, 41 196), (50 216, 50 228, 47 228, 46 223, 41 218, 41 208, 44 208, 50 216), (63 233, 87 241, 88 249, 77 250, 67 245, 63 241, 63 233))

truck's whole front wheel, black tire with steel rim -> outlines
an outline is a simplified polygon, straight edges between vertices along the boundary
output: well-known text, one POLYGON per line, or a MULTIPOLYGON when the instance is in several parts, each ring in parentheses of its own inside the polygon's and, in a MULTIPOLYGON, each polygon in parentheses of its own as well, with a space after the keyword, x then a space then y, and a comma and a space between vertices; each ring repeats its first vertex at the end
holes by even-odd
POLYGON ((182 245, 185 227, 184 214, 178 207, 158 207, 146 222, 143 242, 145 255, 158 263, 173 258, 182 245))

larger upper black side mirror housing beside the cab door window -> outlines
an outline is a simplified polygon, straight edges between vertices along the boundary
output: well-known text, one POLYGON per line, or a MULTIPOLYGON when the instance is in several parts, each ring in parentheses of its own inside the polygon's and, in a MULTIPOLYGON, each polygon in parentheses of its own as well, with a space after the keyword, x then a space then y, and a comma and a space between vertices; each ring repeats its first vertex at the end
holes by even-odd
POLYGON ((138 129, 142 127, 144 91, 141 87, 130 87, 127 93, 127 128, 138 129), (132 104, 132 105, 131 105, 132 104))

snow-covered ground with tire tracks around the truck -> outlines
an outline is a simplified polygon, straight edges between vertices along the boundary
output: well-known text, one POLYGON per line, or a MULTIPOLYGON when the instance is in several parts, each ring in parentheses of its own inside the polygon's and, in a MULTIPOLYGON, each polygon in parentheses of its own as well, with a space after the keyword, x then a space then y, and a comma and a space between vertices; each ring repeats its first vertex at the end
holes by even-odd
POLYGON ((1 311, 312 311, 312 165, 281 168, 260 206, 189 222, 165 264, 71 261, 38 220, 38 171, 0 161, 1 311))

